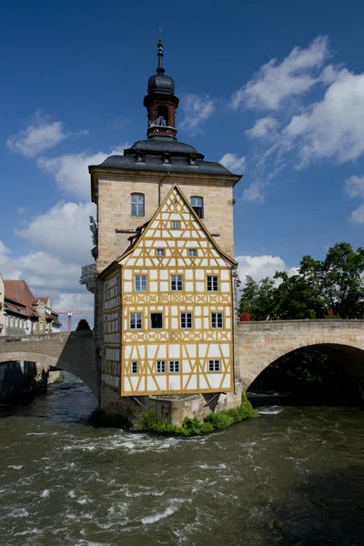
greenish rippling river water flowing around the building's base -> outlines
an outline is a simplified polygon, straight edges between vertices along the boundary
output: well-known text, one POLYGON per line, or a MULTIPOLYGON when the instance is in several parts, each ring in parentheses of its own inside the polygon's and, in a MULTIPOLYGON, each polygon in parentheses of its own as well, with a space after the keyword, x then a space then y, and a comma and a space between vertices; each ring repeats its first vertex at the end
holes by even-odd
POLYGON ((362 410, 270 399, 174 439, 92 429, 95 407, 67 378, 2 409, 2 546, 364 544, 362 410))

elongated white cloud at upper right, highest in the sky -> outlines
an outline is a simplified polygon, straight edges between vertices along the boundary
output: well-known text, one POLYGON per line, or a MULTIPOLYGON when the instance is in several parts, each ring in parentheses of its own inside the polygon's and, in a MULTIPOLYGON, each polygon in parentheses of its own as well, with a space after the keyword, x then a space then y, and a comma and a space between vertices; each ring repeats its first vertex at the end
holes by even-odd
POLYGON ((280 64, 277 58, 270 59, 246 86, 233 94, 231 107, 278 110, 285 99, 308 92, 320 81, 317 72, 328 56, 328 38, 319 36, 304 49, 292 49, 280 64))

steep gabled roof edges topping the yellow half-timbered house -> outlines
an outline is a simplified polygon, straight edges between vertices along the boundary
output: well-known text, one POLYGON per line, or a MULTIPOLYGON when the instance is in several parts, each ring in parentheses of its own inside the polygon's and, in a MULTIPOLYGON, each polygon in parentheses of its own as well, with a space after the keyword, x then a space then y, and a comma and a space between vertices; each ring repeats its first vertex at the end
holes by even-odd
POLYGON ((222 250, 222 248, 220 248, 217 245, 216 240, 211 236, 211 234, 207 230, 207 227, 205 226, 205 224, 197 216, 197 214, 196 214, 195 210, 193 209, 193 207, 191 207, 190 204, 188 203, 187 197, 184 195, 184 193, 182 192, 180 187, 175 185, 175 186, 171 187, 171 189, 168 191, 167 196, 163 199, 163 202, 157 208, 157 210, 156 210, 155 214, 153 215, 153 217, 151 217, 148 222, 146 222, 145 224, 143 224, 142 226, 139 227, 139 229, 138 229, 139 233, 136 234, 136 236, 134 236, 133 238, 130 238, 130 239, 132 239, 130 245, 124 250, 124 252, 118 258, 116 258, 116 260, 111 262, 111 264, 109 264, 109 266, 107 266, 103 271, 101 271, 101 273, 99 274, 100 277, 102 277, 106 273, 106 270, 108 270, 109 268, 112 268, 112 266, 120 266, 119 262, 122 259, 126 258, 129 254, 131 254, 133 252, 133 250, 134 250, 134 248, 136 248, 137 244, 142 240, 142 238, 145 237, 145 234, 147 233, 147 227, 153 223, 153 221, 155 220, 155 218, 157 217, 159 212, 165 206, 165 204, 167 202, 167 199, 169 198, 169 196, 172 194, 173 191, 177 191, 177 193, 181 197, 182 201, 184 202, 184 205, 187 207, 188 212, 195 219, 195 221, 198 224, 198 227, 206 235, 207 239, 210 241, 212 246, 214 248, 216 248, 216 250, 220 254, 221 258, 224 258, 228 262, 228 264, 230 265, 231 268, 236 268, 238 266, 238 263, 235 261, 235 259, 228 256, 227 253, 224 252, 224 250, 222 250))

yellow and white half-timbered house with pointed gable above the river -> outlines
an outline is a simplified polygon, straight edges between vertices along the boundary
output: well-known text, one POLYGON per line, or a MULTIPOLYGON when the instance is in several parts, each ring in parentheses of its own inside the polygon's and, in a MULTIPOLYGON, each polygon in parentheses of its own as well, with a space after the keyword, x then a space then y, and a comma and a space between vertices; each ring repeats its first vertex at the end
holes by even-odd
POLYGON ((103 274, 106 384, 121 396, 232 390, 235 267, 173 187, 103 274))

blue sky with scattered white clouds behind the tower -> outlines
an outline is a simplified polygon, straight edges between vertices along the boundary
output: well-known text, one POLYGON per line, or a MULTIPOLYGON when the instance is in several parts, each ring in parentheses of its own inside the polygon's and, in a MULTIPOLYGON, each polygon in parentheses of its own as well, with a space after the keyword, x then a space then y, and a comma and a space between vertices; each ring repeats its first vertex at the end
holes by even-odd
MULTIPOLYGON (((146 136, 157 66, 181 99, 178 139, 244 177, 240 275, 294 271, 362 245, 364 6, 308 0, 3 6, 0 271, 55 308, 91 308, 87 165, 146 136)), ((78 318, 77 318, 78 319, 78 318)), ((76 319, 75 319, 76 322, 76 319)))

